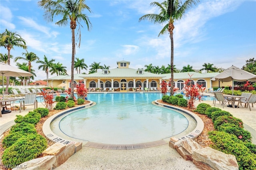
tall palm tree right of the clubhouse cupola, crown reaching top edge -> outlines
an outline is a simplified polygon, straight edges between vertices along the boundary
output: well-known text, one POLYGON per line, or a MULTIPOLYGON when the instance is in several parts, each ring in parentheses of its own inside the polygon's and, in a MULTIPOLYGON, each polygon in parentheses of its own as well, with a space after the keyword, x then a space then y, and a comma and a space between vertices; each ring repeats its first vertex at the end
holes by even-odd
POLYGON ((142 20, 149 20, 150 22, 153 22, 154 24, 167 24, 164 26, 164 28, 160 31, 158 36, 160 34, 169 33, 170 34, 170 40, 171 40, 171 89, 170 89, 170 95, 173 95, 173 59, 174 59, 174 45, 173 45, 173 30, 174 30, 174 21, 180 20, 185 12, 196 4, 196 2, 199 2, 199 0, 186 0, 183 4, 180 0, 165 0, 162 3, 159 2, 152 2, 150 3, 150 6, 158 6, 160 9, 160 14, 146 14, 142 17, 140 17, 139 22, 142 20))

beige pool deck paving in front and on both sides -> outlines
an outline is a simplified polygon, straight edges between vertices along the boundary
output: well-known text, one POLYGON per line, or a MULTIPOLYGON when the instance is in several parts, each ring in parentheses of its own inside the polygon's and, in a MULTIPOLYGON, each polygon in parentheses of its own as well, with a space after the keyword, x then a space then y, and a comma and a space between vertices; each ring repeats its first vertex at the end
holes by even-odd
MULTIPOLYGON (((212 94, 205 94, 212 95, 212 94)), ((212 107, 212 101, 203 101, 212 107)), ((197 106, 199 102, 195 103, 197 106)), ((38 107, 44 107, 42 103, 38 103, 38 107)), ((244 128, 252 134, 252 142, 256 144, 256 105, 249 108, 231 108, 222 105, 217 101, 216 106, 222 110, 230 112, 234 117, 242 119, 244 128)), ((28 111, 32 111, 33 106, 27 106, 25 111, 12 111, 11 113, 3 114, 0 118, 0 134, 14 125, 16 115, 26 115, 28 111)), ((102 139, 104 141, 104 139, 102 139)), ((83 146, 82 149, 71 156, 64 164, 55 168, 56 170, 69 169, 175 169, 175 170, 197 170, 196 166, 191 161, 185 161, 176 150, 170 148, 168 144, 161 146, 135 149, 135 150, 108 150, 97 149, 83 146)))

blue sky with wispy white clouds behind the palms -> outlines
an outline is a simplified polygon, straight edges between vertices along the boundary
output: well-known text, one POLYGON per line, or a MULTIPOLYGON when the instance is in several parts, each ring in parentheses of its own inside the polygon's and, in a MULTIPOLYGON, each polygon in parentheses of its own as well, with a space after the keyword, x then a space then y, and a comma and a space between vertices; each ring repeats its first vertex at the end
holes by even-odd
MULTIPOLYGON (((37 0, 0 0, 0 32, 7 28, 17 32, 34 52, 43 59, 55 59, 71 74, 71 30, 46 22, 37 0)), ((130 68, 145 68, 152 63, 161 67, 170 64, 169 34, 158 37, 162 25, 138 22, 145 14, 159 14, 150 6, 153 0, 87 0, 92 10, 88 15, 92 28, 82 25, 80 48, 76 56, 84 58, 88 69, 94 61, 117 67, 116 61, 130 61, 130 68)), ((162 2, 162 1, 158 1, 162 2)), ((242 68, 246 60, 256 58, 256 0, 201 0, 182 20, 174 22, 174 65, 182 69, 188 64, 201 69, 212 63, 224 69, 235 65, 242 68)), ((11 55, 22 56, 24 49, 14 47, 11 55)), ((0 47, 0 53, 7 49, 0 47)), ((24 56, 23 56, 24 57, 24 56)), ((24 61, 18 61, 20 63, 24 61)), ((15 65, 11 60, 11 65, 15 65)), ((36 70, 35 80, 46 79, 36 70)), ((88 70, 82 70, 88 73, 88 70)), ((74 72, 76 73, 76 71, 74 72)), ((55 75, 50 75, 53 77, 55 75)))

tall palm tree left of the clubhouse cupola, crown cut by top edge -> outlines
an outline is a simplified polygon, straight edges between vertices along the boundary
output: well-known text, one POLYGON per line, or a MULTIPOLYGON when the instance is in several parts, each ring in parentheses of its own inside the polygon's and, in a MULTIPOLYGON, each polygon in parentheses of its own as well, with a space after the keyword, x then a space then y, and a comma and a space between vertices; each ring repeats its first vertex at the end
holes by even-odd
MULTIPOLYGON (((47 21, 53 22, 54 16, 60 17, 61 19, 56 22, 58 26, 67 26, 70 23, 70 29, 72 30, 72 59, 71 59, 71 82, 74 82, 74 60, 75 60, 75 30, 78 24, 79 32, 79 43, 80 47, 80 23, 85 22, 88 31, 90 30, 90 20, 86 14, 82 12, 88 10, 91 12, 90 8, 85 4, 85 0, 40 0, 38 6, 41 6, 44 11, 44 16, 47 21)), ((74 97, 74 84, 71 83, 71 94, 70 97, 74 97)))

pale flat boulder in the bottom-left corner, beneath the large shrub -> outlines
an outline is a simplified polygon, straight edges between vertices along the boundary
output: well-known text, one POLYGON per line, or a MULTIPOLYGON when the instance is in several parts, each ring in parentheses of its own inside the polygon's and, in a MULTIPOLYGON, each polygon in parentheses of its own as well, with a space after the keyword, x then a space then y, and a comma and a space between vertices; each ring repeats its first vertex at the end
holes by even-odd
POLYGON ((56 156, 49 155, 44 156, 41 158, 36 158, 29 160, 27 162, 23 162, 22 164, 18 165, 13 170, 20 170, 20 169, 29 169, 29 170, 51 170, 52 165, 56 161, 56 156))

